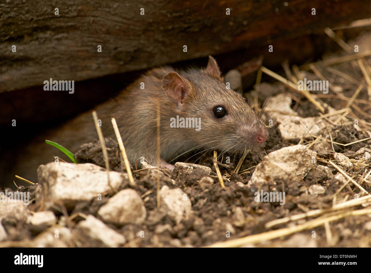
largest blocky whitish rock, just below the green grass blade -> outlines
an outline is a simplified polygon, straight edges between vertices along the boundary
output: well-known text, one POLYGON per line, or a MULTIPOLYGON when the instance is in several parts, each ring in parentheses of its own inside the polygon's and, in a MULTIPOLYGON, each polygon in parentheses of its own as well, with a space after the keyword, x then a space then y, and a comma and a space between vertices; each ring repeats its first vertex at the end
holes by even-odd
POLYGON ((112 188, 108 185, 105 169, 91 163, 48 163, 37 169, 39 184, 37 200, 44 200, 47 208, 62 202, 66 208, 72 208, 78 201, 106 195, 128 183, 127 173, 109 172, 112 188), (47 196, 47 198, 46 198, 47 196))

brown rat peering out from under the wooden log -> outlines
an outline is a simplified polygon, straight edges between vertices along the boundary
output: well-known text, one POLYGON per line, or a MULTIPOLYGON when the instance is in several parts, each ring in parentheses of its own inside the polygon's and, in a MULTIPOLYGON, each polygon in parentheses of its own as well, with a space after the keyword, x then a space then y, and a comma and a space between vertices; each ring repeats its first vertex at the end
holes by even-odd
MULTIPOLYGON (((157 105, 160 105, 161 116, 161 165, 170 169, 174 165, 169 162, 183 153, 216 149, 242 154, 262 147, 268 136, 265 125, 242 95, 224 84, 213 57, 209 56, 206 68, 153 68, 114 99, 94 108, 104 137, 116 139, 111 123, 111 118, 115 118, 133 166, 140 157, 157 166, 157 105)), ((43 135, 44 140, 57 142, 72 153, 77 152, 81 144, 97 138, 91 111, 43 135)), ((52 161, 56 148, 45 144, 41 137, 38 140, 37 148, 32 146, 30 153, 35 156, 38 152, 39 159, 52 161)), ((20 165, 23 170, 36 173, 36 168, 30 165, 35 164, 35 160, 23 158, 20 165)))

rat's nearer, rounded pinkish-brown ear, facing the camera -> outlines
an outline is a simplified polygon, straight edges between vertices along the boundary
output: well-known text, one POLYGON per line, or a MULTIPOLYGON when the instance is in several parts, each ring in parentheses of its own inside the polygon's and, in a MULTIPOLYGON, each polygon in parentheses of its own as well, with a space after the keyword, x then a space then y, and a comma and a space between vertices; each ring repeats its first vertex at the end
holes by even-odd
POLYGON ((162 78, 162 90, 178 105, 181 105, 183 98, 187 95, 187 85, 177 72, 170 72, 162 78))

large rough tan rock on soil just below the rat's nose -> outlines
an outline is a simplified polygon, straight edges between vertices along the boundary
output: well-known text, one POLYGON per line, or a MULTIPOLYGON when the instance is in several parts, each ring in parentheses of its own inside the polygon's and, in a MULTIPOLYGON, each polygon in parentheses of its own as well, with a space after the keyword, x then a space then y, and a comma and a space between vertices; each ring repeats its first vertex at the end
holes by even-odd
MULTIPOLYGON (((250 182, 266 183, 276 180, 299 181, 315 166, 317 153, 306 146, 284 147, 263 157, 252 175, 250 182)), ((249 183, 250 183, 249 182, 249 183)))

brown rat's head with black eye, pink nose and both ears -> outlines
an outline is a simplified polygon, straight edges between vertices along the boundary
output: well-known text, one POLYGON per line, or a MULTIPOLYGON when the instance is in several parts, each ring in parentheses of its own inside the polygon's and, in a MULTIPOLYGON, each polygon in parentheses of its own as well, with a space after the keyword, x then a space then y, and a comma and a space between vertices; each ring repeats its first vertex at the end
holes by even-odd
POLYGON ((162 88, 177 103, 174 113, 184 118, 200 118, 199 131, 182 130, 194 146, 244 152, 262 146, 268 136, 264 124, 242 95, 227 89, 211 56, 206 69, 166 74, 162 88))

